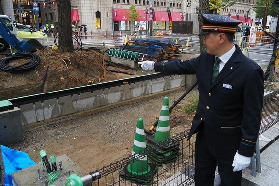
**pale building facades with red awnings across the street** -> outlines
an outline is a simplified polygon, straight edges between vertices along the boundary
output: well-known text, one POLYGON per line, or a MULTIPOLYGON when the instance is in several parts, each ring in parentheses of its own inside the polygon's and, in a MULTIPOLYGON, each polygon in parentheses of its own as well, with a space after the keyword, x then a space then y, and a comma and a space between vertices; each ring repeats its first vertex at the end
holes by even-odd
MULTIPOLYGON (((50 4, 46 0, 0 0, 3 14, 23 24, 35 25, 33 2, 37 2, 39 26, 49 26, 55 30, 58 24, 57 4, 50 4), (24 11, 20 11, 24 9, 24 11)), ((237 0, 232 7, 221 10, 221 15, 231 16, 242 20, 242 23, 254 25, 255 13, 253 7, 256 0, 237 0)), ((174 21, 193 21, 193 33, 198 33, 197 14, 199 0, 71 0, 71 19, 74 29, 82 24, 87 25, 87 32, 100 34, 111 32, 129 33, 134 27, 142 26, 145 32, 172 30, 174 21), (130 5, 135 5, 140 18, 129 21, 126 12, 130 5), (152 20, 152 24, 150 24, 152 20)))

